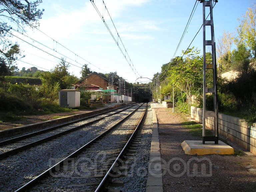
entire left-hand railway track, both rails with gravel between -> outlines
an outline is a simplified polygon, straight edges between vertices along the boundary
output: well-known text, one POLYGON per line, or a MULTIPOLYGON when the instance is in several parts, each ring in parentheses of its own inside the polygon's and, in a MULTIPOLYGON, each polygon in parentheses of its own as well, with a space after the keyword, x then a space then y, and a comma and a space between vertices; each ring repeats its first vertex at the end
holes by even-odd
POLYGON ((10 155, 14 155, 21 151, 29 149, 31 147, 37 146, 41 143, 47 142, 49 140, 60 137, 62 135, 76 131, 84 126, 93 124, 106 117, 125 111, 133 106, 134 105, 119 107, 117 109, 109 110, 103 113, 99 113, 96 115, 81 118, 75 121, 63 123, 61 125, 53 126, 47 129, 43 129, 40 131, 36 131, 33 133, 25 134, 19 137, 2 141, 0 142, 0 160, 10 155))

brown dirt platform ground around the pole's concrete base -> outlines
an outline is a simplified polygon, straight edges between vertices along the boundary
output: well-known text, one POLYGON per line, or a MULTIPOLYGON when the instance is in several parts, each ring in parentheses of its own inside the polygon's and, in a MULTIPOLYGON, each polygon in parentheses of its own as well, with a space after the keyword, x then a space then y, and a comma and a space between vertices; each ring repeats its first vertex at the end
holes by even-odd
MULTIPOLYGON (((200 140, 182 127, 179 114, 156 108, 159 123, 163 191, 256 191, 256 155, 186 155, 181 143, 200 140)), ((231 143, 231 142, 230 142, 231 143)), ((231 144, 236 148, 235 144, 231 144)))

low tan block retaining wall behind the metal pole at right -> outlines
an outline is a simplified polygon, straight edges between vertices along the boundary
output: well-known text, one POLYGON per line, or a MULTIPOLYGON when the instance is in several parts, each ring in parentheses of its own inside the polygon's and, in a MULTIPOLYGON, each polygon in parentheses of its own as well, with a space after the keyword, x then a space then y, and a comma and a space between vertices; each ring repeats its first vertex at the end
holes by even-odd
MULTIPOLYGON (((202 123, 203 109, 191 106, 190 116, 202 123)), ((248 127, 244 119, 222 113, 219 113, 218 116, 219 134, 256 154, 256 123, 248 127)), ((205 126, 214 130, 214 117, 207 117, 205 126)))

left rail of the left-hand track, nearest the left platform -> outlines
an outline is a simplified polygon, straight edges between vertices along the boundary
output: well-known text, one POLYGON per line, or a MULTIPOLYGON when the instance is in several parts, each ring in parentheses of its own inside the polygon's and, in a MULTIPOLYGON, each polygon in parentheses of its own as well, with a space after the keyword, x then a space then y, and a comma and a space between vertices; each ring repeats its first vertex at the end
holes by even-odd
MULTIPOLYGON (((132 104, 133 105, 133 104, 132 104)), ((129 106, 129 105, 128 105, 129 106)), ((124 107, 127 107, 127 106, 122 106, 122 107, 118 107, 118 108, 115 108, 115 109, 111 109, 109 111, 105 111, 105 112, 102 112, 102 113, 97 113, 95 115, 91 115, 91 116, 88 116, 88 117, 84 117, 84 118, 80 118, 80 119, 77 119, 77 120, 74 120, 74 121, 71 121, 71 122, 68 122, 68 123, 63 123, 61 125, 56 125, 54 127, 50 127, 50 128, 47 128, 47 129, 43 129, 43 130, 40 130, 40 131, 36 131, 36 132, 33 132, 33 133, 29 133, 29 134, 26 134, 26 135, 22 135, 22 136, 19 136, 19 137, 15 137, 15 138, 12 138, 12 139, 8 139, 8 140, 5 140, 5 141, 1 141, 0 142, 0 146, 3 146, 3 145, 6 145, 6 144, 9 144, 9 143, 13 143, 15 141, 20 141, 22 139, 26 139, 26 138, 29 138, 29 137, 33 137, 35 135, 40 135, 42 133, 46 133, 46 132, 49 132, 49 131, 52 131, 54 129, 57 129, 57 128, 61 128, 61 127, 64 127, 64 126, 67 126, 67 125, 70 125, 70 124, 73 124, 73 123, 76 123, 78 121, 83 121, 83 120, 86 120, 86 119, 89 119, 89 118, 93 118, 93 117, 96 117, 98 115, 103 115, 105 113, 109 113, 111 111, 115 111, 117 109, 121 109, 121 108, 124 108, 124 107)))

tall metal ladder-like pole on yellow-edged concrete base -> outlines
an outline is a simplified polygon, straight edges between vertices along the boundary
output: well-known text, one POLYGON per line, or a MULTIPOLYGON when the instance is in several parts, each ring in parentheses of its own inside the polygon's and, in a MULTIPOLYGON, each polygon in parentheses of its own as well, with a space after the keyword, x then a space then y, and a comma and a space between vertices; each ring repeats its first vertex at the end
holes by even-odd
MULTIPOLYGON (((215 0, 217 3, 218 1, 215 0)), ((205 1, 200 0, 200 3, 203 3, 203 144, 205 141, 214 141, 215 144, 218 144, 218 93, 217 93, 217 69, 216 69, 216 50, 215 50, 215 42, 214 42, 214 28, 213 28, 213 13, 212 13, 212 0, 205 1), (206 20, 205 18, 205 8, 210 8, 210 20, 206 20), (205 26, 211 27, 211 39, 206 40, 205 36, 205 26), (206 46, 211 46, 212 49, 212 63, 206 63, 206 46), (206 87, 206 73, 212 73, 212 87, 206 87), (207 111, 206 110, 206 93, 213 94, 213 104, 214 104, 214 111, 207 111), (214 118, 214 136, 205 136, 205 120, 207 117, 214 118)), ((208 9, 209 10, 209 9, 208 9)))

